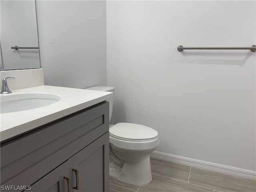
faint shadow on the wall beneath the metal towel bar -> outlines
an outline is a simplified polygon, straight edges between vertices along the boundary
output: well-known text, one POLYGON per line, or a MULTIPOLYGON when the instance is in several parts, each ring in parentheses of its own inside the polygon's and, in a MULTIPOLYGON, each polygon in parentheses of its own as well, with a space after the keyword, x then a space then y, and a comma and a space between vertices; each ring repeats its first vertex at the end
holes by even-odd
POLYGON ((174 58, 174 55, 170 56, 166 63, 183 63, 183 64, 214 64, 214 65, 237 65, 243 66, 248 58, 255 54, 254 52, 248 51, 244 59, 242 60, 230 60, 230 59, 215 59, 217 56, 225 57, 225 58, 234 58, 234 57, 243 57, 245 53, 237 53, 237 52, 208 52, 208 51, 182 51, 180 52, 182 55, 174 58), (206 58, 206 59, 197 59, 197 58, 206 58), (212 59, 208 59, 214 57, 212 59))

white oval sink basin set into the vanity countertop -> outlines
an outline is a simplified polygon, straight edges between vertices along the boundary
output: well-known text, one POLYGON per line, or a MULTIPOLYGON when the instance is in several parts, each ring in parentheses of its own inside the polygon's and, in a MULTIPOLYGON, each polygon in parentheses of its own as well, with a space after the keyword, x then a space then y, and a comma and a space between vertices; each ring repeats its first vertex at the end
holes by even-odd
POLYGON ((10 113, 39 108, 61 99, 57 94, 28 93, 1 96, 0 113, 10 113))

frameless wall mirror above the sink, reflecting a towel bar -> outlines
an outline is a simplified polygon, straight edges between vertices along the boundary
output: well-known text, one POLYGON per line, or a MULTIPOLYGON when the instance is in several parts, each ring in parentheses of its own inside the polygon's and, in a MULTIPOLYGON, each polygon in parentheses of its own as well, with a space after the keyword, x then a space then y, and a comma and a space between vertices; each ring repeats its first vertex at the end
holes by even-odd
POLYGON ((1 0, 1 70, 40 68, 35 0, 1 0))

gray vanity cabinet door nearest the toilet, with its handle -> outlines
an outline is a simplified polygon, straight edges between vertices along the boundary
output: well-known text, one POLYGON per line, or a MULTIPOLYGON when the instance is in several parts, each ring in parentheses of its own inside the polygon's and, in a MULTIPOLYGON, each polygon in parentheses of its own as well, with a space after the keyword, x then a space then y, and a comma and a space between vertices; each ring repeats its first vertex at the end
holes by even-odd
POLYGON ((72 192, 108 192, 109 132, 75 154, 68 162, 72 192))

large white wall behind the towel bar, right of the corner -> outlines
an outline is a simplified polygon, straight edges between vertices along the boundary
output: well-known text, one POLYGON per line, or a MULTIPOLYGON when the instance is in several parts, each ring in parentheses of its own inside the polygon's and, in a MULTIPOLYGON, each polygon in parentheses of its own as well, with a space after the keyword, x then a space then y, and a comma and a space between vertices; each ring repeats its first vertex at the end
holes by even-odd
POLYGON ((156 129, 156 151, 256 170, 255 1, 107 1, 112 123, 156 129))

